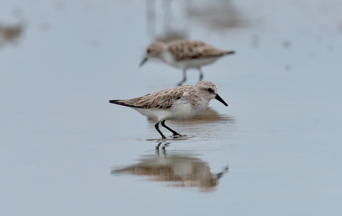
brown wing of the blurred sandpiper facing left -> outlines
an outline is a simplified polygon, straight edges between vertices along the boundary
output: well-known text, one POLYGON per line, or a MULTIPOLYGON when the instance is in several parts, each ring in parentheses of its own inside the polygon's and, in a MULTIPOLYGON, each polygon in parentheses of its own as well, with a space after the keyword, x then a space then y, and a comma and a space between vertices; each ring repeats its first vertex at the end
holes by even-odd
POLYGON ((178 40, 168 44, 169 52, 177 61, 194 58, 219 57, 233 54, 234 51, 224 51, 200 41, 178 40))

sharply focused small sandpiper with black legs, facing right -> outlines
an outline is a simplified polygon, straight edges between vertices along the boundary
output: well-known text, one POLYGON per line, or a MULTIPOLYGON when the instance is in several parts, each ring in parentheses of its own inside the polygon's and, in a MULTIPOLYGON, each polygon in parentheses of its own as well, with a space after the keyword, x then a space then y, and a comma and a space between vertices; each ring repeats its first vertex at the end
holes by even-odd
POLYGON ((155 127, 162 139, 166 139, 159 130, 159 123, 173 133, 176 131, 165 125, 165 120, 180 120, 194 117, 209 106, 211 99, 216 99, 228 106, 218 95, 217 86, 210 81, 200 81, 195 85, 183 85, 175 88, 163 89, 148 95, 127 99, 110 100, 110 103, 129 106, 140 114, 157 120, 155 127))

